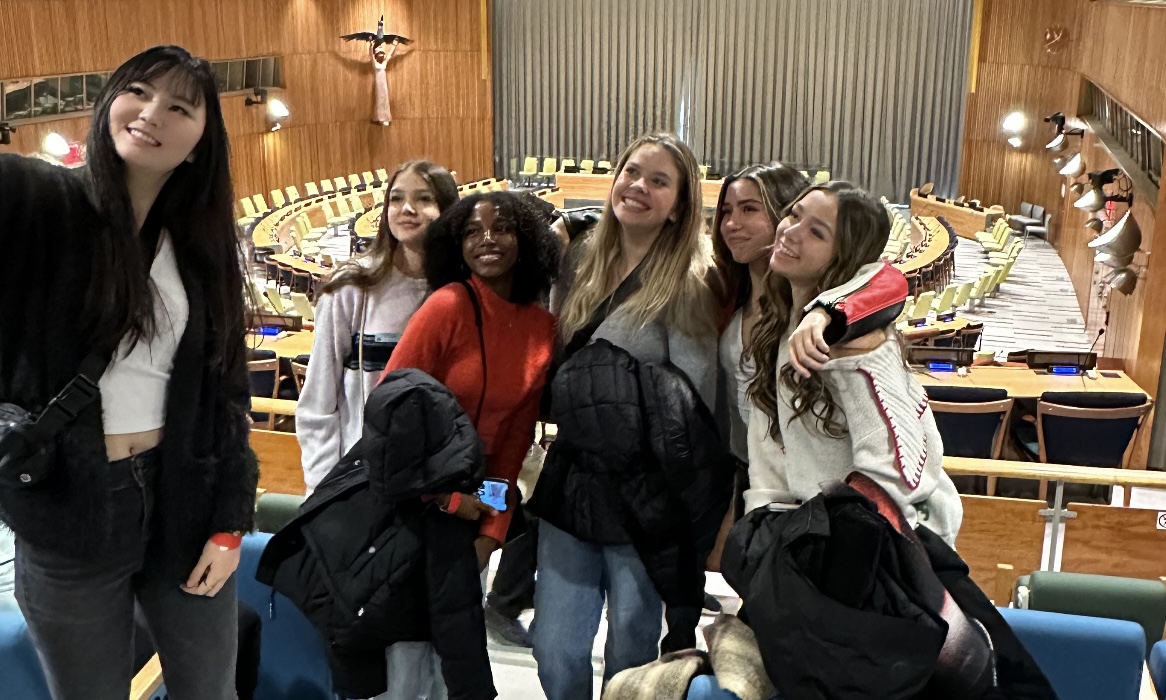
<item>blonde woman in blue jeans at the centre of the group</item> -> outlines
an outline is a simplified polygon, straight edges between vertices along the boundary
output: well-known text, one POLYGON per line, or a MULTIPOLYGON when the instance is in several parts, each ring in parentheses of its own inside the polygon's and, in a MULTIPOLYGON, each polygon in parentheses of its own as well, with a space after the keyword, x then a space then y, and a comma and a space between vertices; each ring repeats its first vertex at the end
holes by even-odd
MULTIPOLYGON (((697 402, 711 406, 717 303, 705 280, 711 264, 705 240, 691 150, 673 134, 641 136, 619 159, 598 223, 567 251, 553 304, 559 360, 567 363, 560 372, 566 373, 571 357, 585 346, 604 341, 637 363, 670 366, 691 385, 697 402)), ((602 380, 582 384, 590 385, 564 387, 556 382, 553 387, 552 412, 560 432, 531 504, 543 518, 532 640, 549 700, 591 698, 591 648, 605 601, 605 681, 659 654, 661 579, 645 567, 644 548, 637 546, 642 542, 630 531, 639 513, 630 512, 609 481, 621 477, 598 473, 602 459, 563 447, 573 443, 573 430, 627 430, 619 421, 577 426, 578 420, 603 420, 590 407, 602 404, 609 388, 602 380)), ((715 439, 715 428, 712 433, 715 439)), ((667 499, 651 490, 644 495, 651 509, 663 508, 667 499)), ((697 590, 697 616, 701 595, 697 590)))

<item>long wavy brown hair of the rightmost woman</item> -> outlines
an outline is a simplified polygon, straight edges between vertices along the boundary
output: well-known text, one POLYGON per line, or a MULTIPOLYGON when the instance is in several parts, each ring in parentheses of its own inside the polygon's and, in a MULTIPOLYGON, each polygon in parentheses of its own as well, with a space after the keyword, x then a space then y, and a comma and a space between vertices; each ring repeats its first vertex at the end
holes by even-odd
MULTIPOLYGON (((842 181, 806 189, 786 208, 786 214, 788 215, 794 204, 813 191, 824 192, 838 203, 838 220, 834 228, 834 258, 819 279, 820 289, 831 289, 854 279, 863 265, 879 259, 891 236, 891 219, 886 215, 886 209, 865 190, 842 181)), ((756 366, 749 398, 770 416, 770 436, 780 439, 781 426, 778 420, 780 374, 781 385, 793 392, 791 402, 794 413, 789 420, 798 420, 810 413, 820 432, 841 438, 845 434, 845 425, 837 418, 841 410, 830 396, 822 376, 815 372, 807 379, 798 374, 788 363, 785 366, 777 366, 782 336, 789 330, 793 318, 794 298, 789 280, 786 278, 770 272, 765 275, 765 282, 761 315, 753 328, 752 348, 749 350, 756 366)))

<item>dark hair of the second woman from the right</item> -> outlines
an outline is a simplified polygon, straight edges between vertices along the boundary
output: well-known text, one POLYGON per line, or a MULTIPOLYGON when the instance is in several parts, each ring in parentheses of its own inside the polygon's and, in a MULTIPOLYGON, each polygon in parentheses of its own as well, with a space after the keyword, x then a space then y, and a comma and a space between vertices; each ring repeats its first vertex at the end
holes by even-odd
POLYGON ((729 186, 738 180, 749 180, 760 190, 765 212, 770 216, 770 223, 774 230, 777 230, 786 206, 809 187, 809 180, 805 175, 777 161, 749 166, 725 177, 724 184, 721 186, 721 194, 717 196, 717 210, 712 217, 712 261, 723 285, 721 303, 722 306, 732 304, 733 309, 745 306, 753 290, 749 266, 732 259, 732 251, 729 250, 729 244, 721 236, 721 222, 724 219, 722 208, 725 203, 725 195, 729 192, 729 186))

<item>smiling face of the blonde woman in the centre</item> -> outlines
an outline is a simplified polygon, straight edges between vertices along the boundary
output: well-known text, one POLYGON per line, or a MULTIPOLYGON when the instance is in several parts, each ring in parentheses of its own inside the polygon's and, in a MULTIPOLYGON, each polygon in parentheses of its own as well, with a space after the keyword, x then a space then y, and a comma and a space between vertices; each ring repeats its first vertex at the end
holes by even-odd
POLYGON ((658 231, 676 214, 682 187, 680 168, 656 144, 645 144, 627 158, 611 186, 611 209, 625 231, 658 231))

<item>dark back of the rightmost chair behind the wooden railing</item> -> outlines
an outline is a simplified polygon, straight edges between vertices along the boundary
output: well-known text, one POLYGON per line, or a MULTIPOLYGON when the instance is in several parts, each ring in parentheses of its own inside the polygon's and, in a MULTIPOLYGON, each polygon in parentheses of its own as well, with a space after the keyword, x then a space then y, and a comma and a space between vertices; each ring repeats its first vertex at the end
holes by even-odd
POLYGON ((1153 402, 1135 392, 1052 392, 1037 401, 1040 461, 1121 468, 1153 402))

